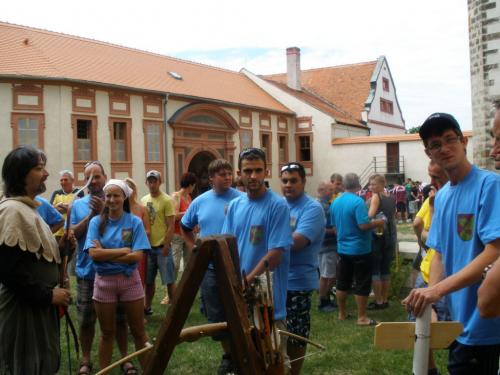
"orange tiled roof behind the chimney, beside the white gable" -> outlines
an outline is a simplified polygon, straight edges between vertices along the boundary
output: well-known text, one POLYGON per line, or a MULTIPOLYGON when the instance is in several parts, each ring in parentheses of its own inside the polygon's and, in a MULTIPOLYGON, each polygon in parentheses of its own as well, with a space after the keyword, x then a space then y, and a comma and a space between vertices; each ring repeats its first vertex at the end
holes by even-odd
MULTIPOLYGON (((370 93, 370 81, 376 65, 377 61, 369 61, 302 70, 302 89, 310 94, 304 95, 303 99, 314 106, 313 97, 322 98, 337 108, 343 114, 341 117, 350 118, 351 121, 353 119, 358 125, 362 125, 361 112, 370 93)), ((265 75, 263 78, 284 86, 287 83, 286 73, 265 75)), ((300 91, 291 91, 297 96, 301 95, 300 91)))

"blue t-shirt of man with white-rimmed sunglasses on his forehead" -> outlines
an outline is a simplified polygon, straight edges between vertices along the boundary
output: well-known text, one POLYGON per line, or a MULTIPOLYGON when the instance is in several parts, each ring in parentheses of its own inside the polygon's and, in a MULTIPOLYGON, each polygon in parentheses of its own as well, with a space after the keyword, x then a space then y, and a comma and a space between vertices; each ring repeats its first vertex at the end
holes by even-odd
POLYGON ((307 194, 290 202, 290 228, 306 237, 310 244, 290 251, 288 290, 309 291, 319 287, 318 254, 325 236, 325 213, 318 201, 307 194))

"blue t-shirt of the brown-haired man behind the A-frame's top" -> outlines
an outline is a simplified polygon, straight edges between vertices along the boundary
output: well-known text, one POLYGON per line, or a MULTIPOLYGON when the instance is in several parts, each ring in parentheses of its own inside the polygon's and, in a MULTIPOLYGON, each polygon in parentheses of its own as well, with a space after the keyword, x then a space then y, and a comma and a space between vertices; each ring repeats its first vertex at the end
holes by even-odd
POLYGON ((229 202, 241 195, 244 193, 233 188, 220 195, 208 190, 191 202, 181 223, 191 229, 199 225, 200 237, 221 234, 229 202))

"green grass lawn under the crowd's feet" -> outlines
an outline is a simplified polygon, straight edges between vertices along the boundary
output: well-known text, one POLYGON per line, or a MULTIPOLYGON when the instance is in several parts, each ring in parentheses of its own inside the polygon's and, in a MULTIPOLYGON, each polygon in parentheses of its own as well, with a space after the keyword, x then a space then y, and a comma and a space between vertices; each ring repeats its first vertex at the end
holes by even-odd
MULTIPOLYGON (((76 282, 73 280, 72 285, 76 282)), ((76 292, 73 292, 75 296, 76 292)), ((153 305, 154 314, 148 317, 146 325, 150 340, 156 337, 161 321, 166 313, 166 308, 160 305, 164 294, 162 289, 157 289, 153 305)), ((353 298, 349 298, 350 311, 355 313, 353 298)), ((311 317, 311 339, 327 347, 325 352, 320 352, 304 361, 303 374, 410 374, 412 366, 412 353, 403 350, 382 351, 373 347, 373 327, 357 327, 356 319, 340 322, 336 313, 318 313, 316 310, 317 295, 314 296, 311 317)), ((76 308, 71 306, 70 312, 76 324, 76 308)), ((386 310, 370 314, 377 321, 405 321, 406 313, 398 300, 392 300, 386 310)), ((199 300, 191 309, 187 326, 205 324, 205 318, 199 312, 199 300)), ((97 342, 100 335, 96 327, 94 339, 93 362, 95 369, 98 363, 97 342)), ((129 349, 134 351, 132 339, 129 340, 129 349)), ((309 353, 318 351, 309 347, 309 353)), ((117 357, 118 349, 114 354, 117 357)), ((194 343, 179 345, 170 360, 166 373, 169 374, 215 374, 222 351, 220 346, 210 338, 203 338, 194 343)), ((446 351, 437 353, 437 363, 440 371, 446 373, 446 351)), ((61 321, 61 370, 60 374, 69 374, 66 350, 65 324, 61 321)), ((137 361, 135 362, 137 364, 137 361)), ((72 372, 76 373, 76 356, 72 353, 72 372)), ((113 374, 119 374, 116 370, 113 374)))

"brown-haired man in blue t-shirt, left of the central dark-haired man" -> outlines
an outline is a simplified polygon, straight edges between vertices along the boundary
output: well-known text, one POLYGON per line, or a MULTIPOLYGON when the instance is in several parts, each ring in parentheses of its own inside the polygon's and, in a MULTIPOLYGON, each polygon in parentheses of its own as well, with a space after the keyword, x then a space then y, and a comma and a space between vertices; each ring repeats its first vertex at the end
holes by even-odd
MULTIPOLYGON (((195 235, 193 229, 196 226, 199 226, 200 237, 222 233, 229 202, 243 194, 231 187, 233 183, 233 167, 227 160, 213 160, 208 165, 208 176, 212 189, 193 200, 181 219, 182 234, 190 249, 194 246, 195 235)), ((201 283, 201 299, 203 313, 210 323, 226 321, 224 305, 220 299, 217 278, 212 263, 210 263, 201 283)), ((223 333, 213 336, 213 339, 221 341, 224 350, 218 373, 233 372, 229 334, 223 333)))

